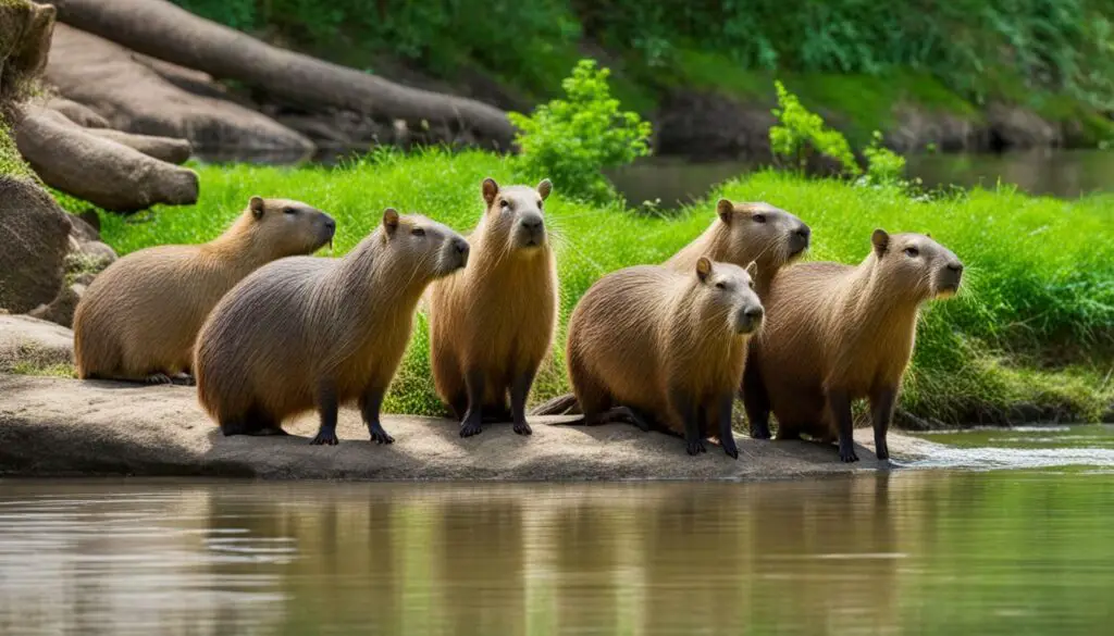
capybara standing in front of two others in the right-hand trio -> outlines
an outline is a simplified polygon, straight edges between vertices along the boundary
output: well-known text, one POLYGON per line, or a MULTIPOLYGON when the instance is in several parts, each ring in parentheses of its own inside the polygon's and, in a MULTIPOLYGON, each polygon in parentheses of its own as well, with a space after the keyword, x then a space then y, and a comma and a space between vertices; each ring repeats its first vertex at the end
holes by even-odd
POLYGON ((715 434, 737 459, 731 408, 762 314, 752 274, 730 263, 604 276, 568 323, 566 361, 585 423, 623 418, 665 429, 684 436, 688 454, 715 434))

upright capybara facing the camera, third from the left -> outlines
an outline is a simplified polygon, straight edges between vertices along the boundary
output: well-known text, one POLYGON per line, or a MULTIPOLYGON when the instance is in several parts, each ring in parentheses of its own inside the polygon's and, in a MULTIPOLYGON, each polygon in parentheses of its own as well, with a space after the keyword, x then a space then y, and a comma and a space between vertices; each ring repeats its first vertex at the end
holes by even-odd
POLYGON ((557 324, 557 268, 543 202, 553 186, 500 188, 483 179, 486 209, 468 237, 468 268, 430 288, 430 360, 437 392, 460 422, 481 432, 485 411, 530 434, 526 398, 557 324))

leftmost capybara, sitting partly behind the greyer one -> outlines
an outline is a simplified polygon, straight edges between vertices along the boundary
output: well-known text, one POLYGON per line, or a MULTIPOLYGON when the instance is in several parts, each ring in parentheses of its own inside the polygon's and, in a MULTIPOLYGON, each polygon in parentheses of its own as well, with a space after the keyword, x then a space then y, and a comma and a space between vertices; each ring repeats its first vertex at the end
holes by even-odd
POLYGON ((304 203, 253 196, 209 243, 128 254, 77 305, 78 378, 192 383, 194 341, 217 301, 258 267, 315 252, 335 231, 332 217, 304 203))

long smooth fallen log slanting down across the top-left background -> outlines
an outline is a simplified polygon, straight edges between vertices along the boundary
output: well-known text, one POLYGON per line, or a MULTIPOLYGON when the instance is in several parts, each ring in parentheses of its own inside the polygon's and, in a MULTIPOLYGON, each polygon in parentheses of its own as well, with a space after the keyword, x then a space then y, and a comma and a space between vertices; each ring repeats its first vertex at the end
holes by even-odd
POLYGON ((294 104, 332 106, 377 119, 471 129, 509 148, 505 112, 480 101, 404 87, 381 77, 266 45, 164 0, 51 0, 60 19, 129 49, 235 79, 294 104))

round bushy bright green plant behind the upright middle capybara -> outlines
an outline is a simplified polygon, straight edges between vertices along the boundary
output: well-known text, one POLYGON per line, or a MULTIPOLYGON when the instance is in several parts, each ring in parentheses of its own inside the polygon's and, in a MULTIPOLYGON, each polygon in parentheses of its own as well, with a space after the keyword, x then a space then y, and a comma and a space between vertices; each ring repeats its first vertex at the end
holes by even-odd
POLYGON ((609 74, 583 59, 561 81, 567 99, 543 104, 529 117, 510 114, 519 130, 515 143, 525 176, 548 177, 568 195, 602 200, 612 195, 603 168, 649 155, 649 123, 619 110, 607 86, 609 74))

